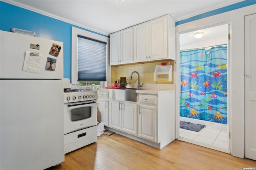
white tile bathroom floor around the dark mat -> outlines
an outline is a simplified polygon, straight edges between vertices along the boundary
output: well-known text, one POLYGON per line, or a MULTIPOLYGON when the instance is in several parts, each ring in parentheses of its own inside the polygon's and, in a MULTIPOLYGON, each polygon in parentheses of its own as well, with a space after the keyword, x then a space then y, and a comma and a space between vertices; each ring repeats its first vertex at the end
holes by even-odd
POLYGON ((218 128, 204 127, 200 132, 180 128, 180 138, 185 142, 190 142, 207 148, 230 153, 228 147, 228 132, 218 128))

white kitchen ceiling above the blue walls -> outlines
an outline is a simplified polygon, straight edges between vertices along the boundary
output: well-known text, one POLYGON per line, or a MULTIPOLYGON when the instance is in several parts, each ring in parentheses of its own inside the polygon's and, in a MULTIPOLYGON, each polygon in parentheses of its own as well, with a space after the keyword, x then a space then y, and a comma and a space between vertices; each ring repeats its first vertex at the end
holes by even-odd
MULTIPOLYGON (((175 21, 180 21, 204 12, 241 2, 242 0, 4 1, 59 20, 64 20, 70 24, 109 35, 166 14, 170 14, 175 21)), ((216 35, 219 34, 216 33, 216 35)))

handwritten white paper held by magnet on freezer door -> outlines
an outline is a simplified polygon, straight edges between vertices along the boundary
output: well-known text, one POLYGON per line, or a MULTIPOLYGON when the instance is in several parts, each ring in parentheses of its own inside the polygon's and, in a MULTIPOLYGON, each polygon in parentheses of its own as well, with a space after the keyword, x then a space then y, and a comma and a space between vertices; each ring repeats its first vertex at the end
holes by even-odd
POLYGON ((39 73, 42 61, 42 54, 37 56, 30 55, 30 51, 26 51, 23 70, 29 73, 39 73))

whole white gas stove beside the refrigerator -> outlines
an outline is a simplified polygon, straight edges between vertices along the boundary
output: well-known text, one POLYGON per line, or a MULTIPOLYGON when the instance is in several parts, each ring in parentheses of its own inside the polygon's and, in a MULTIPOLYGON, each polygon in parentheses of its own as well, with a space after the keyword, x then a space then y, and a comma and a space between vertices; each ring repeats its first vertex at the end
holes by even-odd
POLYGON ((64 79, 65 154, 97 140, 97 91, 64 79))

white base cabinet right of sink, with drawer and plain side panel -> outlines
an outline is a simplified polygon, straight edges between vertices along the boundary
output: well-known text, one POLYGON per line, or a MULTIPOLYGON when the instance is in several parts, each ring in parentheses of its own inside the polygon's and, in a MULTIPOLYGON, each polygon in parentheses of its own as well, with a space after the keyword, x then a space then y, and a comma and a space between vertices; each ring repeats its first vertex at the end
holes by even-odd
POLYGON ((138 136, 166 146, 175 139, 175 93, 139 94, 138 136))

